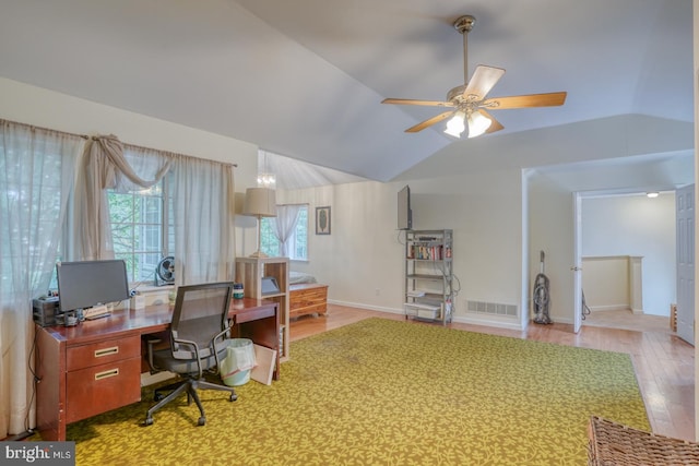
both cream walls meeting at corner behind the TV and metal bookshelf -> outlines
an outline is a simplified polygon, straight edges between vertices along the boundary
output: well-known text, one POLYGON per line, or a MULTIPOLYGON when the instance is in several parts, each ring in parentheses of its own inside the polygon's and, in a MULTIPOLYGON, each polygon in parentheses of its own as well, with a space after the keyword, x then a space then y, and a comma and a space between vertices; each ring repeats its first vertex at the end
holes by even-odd
POLYGON ((329 285, 329 300, 390 312, 404 302, 404 232, 396 230, 398 191, 410 184, 413 228, 454 231, 453 270, 461 290, 454 320, 518 327, 512 318, 469 315, 466 300, 521 306, 521 176, 461 175, 391 183, 374 181, 279 192, 283 203, 332 207, 330 236, 309 237, 309 272, 329 285))

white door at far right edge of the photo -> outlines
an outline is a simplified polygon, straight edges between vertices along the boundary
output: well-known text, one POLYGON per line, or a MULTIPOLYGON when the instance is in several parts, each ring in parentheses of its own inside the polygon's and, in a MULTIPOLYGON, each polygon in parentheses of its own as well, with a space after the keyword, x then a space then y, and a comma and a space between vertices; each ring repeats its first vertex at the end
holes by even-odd
POLYGON ((695 344, 695 186, 675 192, 677 336, 695 344))

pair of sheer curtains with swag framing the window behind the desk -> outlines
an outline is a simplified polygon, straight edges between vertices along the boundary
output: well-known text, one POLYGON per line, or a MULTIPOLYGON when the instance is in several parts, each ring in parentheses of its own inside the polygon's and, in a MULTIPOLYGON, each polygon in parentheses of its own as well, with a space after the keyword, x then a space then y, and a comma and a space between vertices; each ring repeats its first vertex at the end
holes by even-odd
POLYGON ((150 188, 169 172, 176 285, 233 279, 233 166, 122 144, 114 135, 93 138, 84 166, 81 260, 114 258, 107 189, 150 188))

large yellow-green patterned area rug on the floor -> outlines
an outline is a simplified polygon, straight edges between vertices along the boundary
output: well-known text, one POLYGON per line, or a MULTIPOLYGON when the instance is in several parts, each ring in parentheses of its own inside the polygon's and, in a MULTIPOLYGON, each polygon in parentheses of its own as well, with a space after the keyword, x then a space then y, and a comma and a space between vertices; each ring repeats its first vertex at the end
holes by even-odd
POLYGON ((79 465, 581 465, 591 415, 649 430, 626 354, 383 319, 291 347, 281 380, 68 428, 79 465))

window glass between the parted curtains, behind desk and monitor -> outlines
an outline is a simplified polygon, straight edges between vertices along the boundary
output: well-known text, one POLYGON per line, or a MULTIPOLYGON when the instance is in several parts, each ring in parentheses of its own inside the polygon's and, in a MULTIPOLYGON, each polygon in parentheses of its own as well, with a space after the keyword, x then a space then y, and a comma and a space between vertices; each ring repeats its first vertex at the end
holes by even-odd
POLYGON ((154 280, 158 262, 175 249, 173 203, 164 207, 166 181, 141 191, 108 191, 114 252, 126 261, 131 283, 154 280))

